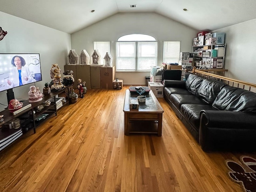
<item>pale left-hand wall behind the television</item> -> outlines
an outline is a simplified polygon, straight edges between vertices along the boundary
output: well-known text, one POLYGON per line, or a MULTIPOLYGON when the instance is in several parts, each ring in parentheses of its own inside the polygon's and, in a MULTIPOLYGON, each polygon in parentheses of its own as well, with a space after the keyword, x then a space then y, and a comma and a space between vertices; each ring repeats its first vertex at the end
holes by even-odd
MULTIPOLYGON (((0 41, 0 53, 39 53, 42 81, 36 86, 42 91, 45 82, 50 82, 50 68, 57 63, 62 72, 71 48, 70 34, 0 12, 0 26, 8 34, 0 41)), ((67 26, 68 27, 68 26, 67 26)), ((28 99, 32 84, 14 88, 17 99, 28 99)), ((6 91, 0 92, 0 103, 7 105, 6 91)), ((0 111, 7 106, 0 105, 0 111)))

